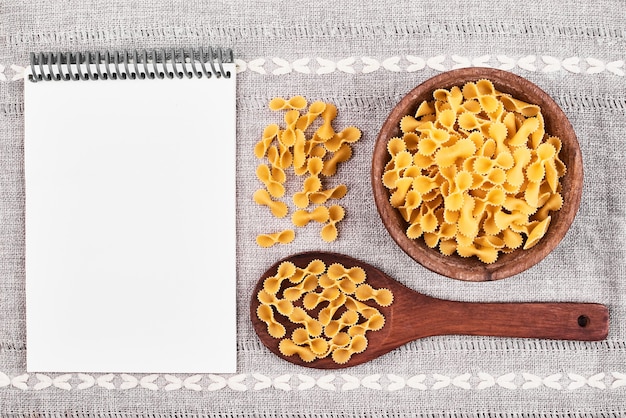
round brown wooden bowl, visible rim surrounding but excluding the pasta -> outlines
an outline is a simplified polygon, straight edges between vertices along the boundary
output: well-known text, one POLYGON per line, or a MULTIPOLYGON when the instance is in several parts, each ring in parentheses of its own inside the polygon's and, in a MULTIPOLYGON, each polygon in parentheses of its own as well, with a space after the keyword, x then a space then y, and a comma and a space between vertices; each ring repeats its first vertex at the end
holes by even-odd
POLYGON ((545 258, 563 239, 572 224, 583 186, 583 163, 578 140, 563 110, 543 90, 530 81, 513 73, 490 68, 464 68, 439 74, 411 90, 392 110, 384 122, 372 158, 371 182, 378 213, 389 234, 400 248, 424 267, 444 276, 464 281, 498 280, 523 272, 545 258), (406 235, 407 222, 389 202, 389 190, 382 183, 385 165, 390 161, 388 141, 402 136, 400 119, 413 115, 424 100, 432 100, 438 88, 462 87, 465 83, 480 79, 491 80, 497 90, 514 98, 541 107, 548 134, 558 136, 562 143, 559 154, 567 172, 561 178, 563 207, 552 212, 552 220, 546 235, 528 250, 517 249, 500 254, 497 261, 485 264, 476 257, 463 258, 456 253, 443 255, 437 248, 428 247, 422 238, 410 239, 406 235))

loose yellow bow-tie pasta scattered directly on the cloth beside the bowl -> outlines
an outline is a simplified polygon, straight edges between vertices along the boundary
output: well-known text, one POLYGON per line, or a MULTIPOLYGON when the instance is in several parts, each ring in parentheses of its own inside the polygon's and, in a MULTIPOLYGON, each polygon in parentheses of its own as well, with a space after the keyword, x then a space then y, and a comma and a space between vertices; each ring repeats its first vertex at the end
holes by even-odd
MULTIPOLYGON (((335 131, 333 122, 337 107, 332 103, 317 101, 309 105, 302 96, 276 97, 269 102, 269 108, 285 112, 284 127, 267 125, 254 147, 255 156, 267 160, 267 164, 259 164, 256 170, 264 187, 255 192, 254 201, 267 206, 277 218, 287 216, 289 206, 282 199, 290 194, 287 173, 293 172, 303 178, 299 190, 290 196, 291 203, 297 208, 291 216, 293 225, 302 228, 315 221, 322 225, 322 239, 335 241, 339 234, 337 225, 343 220, 345 211, 329 201, 343 198, 348 188, 345 184, 325 188, 324 183, 337 173, 341 163, 352 157, 352 144, 361 138, 361 131, 354 126, 335 131), (311 206, 313 208, 309 210, 311 206)), ((277 242, 275 234, 257 237, 261 247, 270 247, 277 242)))

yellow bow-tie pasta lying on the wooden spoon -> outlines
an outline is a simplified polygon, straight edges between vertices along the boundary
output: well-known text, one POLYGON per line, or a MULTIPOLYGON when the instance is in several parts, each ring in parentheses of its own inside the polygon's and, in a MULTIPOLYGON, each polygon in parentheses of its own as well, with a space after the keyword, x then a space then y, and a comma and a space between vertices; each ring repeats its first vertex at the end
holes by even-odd
POLYGON ((313 260, 302 269, 285 261, 263 282, 257 294, 257 316, 266 324, 268 334, 281 340, 278 348, 283 355, 298 355, 305 362, 330 356, 344 364, 365 351, 368 332, 385 325, 385 317, 372 305, 389 306, 393 302, 390 290, 374 289, 365 280, 361 267, 346 268, 339 263, 326 266, 313 260), (286 335, 276 315, 283 323, 298 325, 291 335, 286 335))

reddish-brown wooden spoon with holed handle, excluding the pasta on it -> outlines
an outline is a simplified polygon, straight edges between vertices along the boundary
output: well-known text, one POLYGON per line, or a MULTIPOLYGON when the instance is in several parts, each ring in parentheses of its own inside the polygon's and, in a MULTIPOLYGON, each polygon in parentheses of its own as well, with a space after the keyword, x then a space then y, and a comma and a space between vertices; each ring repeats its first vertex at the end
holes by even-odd
MULTIPOLYGON (((294 304, 297 305, 298 302, 294 304)), ((409 289, 367 263, 327 252, 295 254, 270 267, 254 289, 250 317, 261 342, 274 354, 300 366, 319 369, 356 366, 410 341, 437 335, 597 341, 606 338, 609 327, 608 309, 601 304, 469 303, 436 299, 409 289), (384 315, 385 325, 379 331, 367 332, 368 345, 365 351, 354 354, 344 364, 336 363, 330 356, 305 362, 298 355, 283 355, 278 349, 281 339, 269 335, 266 323, 257 316, 260 305, 257 294, 263 289, 264 280, 277 274, 280 263, 290 261, 296 267, 305 268, 316 259, 323 261, 327 267, 333 263, 340 263, 346 268, 359 266, 366 272, 366 283, 376 289, 387 288, 393 292, 393 303, 387 307, 368 302, 384 315)), ((289 338, 293 330, 301 326, 291 323, 280 314, 276 314, 275 319, 285 326, 285 338, 289 338)))

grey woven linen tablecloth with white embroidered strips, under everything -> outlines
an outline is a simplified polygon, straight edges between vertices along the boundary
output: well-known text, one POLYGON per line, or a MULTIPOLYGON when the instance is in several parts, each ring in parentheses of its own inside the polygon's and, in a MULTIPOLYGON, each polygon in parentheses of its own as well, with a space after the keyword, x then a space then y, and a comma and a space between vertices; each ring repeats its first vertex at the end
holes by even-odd
POLYGON ((0 416, 623 416, 625 50, 620 0, 2 0, 0 416), (31 51, 203 45, 232 47, 240 60, 238 374, 26 375, 23 81, 13 78, 31 51), (416 264, 386 233, 369 183, 371 151, 390 108, 427 78, 468 65, 506 68, 547 91, 570 118, 584 160, 582 203, 565 239, 535 267, 494 283, 459 282, 416 264), (311 226, 290 245, 262 249, 256 235, 289 222, 252 202, 260 185, 252 150, 265 125, 282 123, 269 100, 295 94, 335 103, 335 126, 363 132, 332 180, 348 186, 346 218, 336 242, 323 242, 311 226), (591 343, 435 337, 337 372, 297 367, 260 344, 248 306, 259 275, 304 250, 352 255, 441 298, 604 303, 610 334, 591 343))

